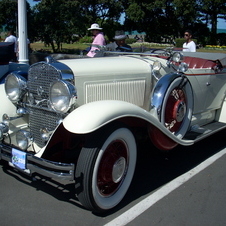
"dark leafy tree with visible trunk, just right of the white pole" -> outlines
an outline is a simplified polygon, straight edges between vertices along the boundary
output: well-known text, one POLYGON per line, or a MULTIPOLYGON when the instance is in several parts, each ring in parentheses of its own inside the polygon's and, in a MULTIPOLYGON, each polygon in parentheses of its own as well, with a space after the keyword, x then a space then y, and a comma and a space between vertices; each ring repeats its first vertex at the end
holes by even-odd
POLYGON ((76 2, 42 0, 33 8, 36 39, 51 45, 53 52, 59 51, 61 43, 73 35, 71 18, 74 11, 71 9, 76 2))

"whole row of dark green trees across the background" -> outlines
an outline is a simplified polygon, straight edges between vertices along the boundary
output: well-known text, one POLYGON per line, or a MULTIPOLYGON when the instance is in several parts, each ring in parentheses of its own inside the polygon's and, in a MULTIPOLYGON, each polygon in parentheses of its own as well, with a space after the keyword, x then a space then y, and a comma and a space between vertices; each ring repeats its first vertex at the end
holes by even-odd
MULTIPOLYGON (((0 1, 0 24, 16 30, 17 1, 0 1)), ((146 41, 161 42, 163 37, 181 37, 191 29, 203 43, 211 37, 216 43, 217 19, 226 19, 224 0, 42 0, 32 9, 27 5, 28 36, 60 50, 61 43, 90 34, 92 23, 103 27, 110 39, 116 30, 138 30, 146 41), (119 23, 125 14, 124 25, 119 23), (211 24, 209 35, 208 24, 211 24)))

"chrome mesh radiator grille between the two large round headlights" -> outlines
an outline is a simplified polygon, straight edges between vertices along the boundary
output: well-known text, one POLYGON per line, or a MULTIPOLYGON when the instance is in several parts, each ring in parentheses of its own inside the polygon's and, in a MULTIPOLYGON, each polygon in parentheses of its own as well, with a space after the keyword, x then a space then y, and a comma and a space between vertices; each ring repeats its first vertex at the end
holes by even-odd
POLYGON ((61 79, 60 71, 45 62, 32 65, 28 72, 29 98, 34 101, 29 105, 29 125, 34 141, 40 147, 45 145, 40 129, 47 128, 52 131, 59 121, 59 116, 48 110, 47 103, 50 84, 57 79, 61 79))

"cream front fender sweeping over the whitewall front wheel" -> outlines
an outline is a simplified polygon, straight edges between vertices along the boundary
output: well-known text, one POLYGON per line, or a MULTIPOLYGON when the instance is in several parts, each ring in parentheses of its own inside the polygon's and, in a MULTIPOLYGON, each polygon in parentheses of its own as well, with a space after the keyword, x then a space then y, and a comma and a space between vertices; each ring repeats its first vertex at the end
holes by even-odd
POLYGON ((191 145, 193 143, 193 141, 183 141, 174 136, 148 111, 128 102, 117 100, 96 101, 82 105, 64 119, 63 126, 71 133, 86 134, 124 117, 143 119, 179 144, 191 145))

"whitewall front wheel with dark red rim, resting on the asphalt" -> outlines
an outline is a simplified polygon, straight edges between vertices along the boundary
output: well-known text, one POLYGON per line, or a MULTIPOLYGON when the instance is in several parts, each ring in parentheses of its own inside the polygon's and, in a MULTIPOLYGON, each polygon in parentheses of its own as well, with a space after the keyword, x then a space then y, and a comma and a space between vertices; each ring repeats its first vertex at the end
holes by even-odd
POLYGON ((94 212, 115 207, 133 178, 136 142, 127 128, 100 131, 82 148, 75 173, 79 201, 94 212), (106 139, 98 145, 101 136, 106 139))

